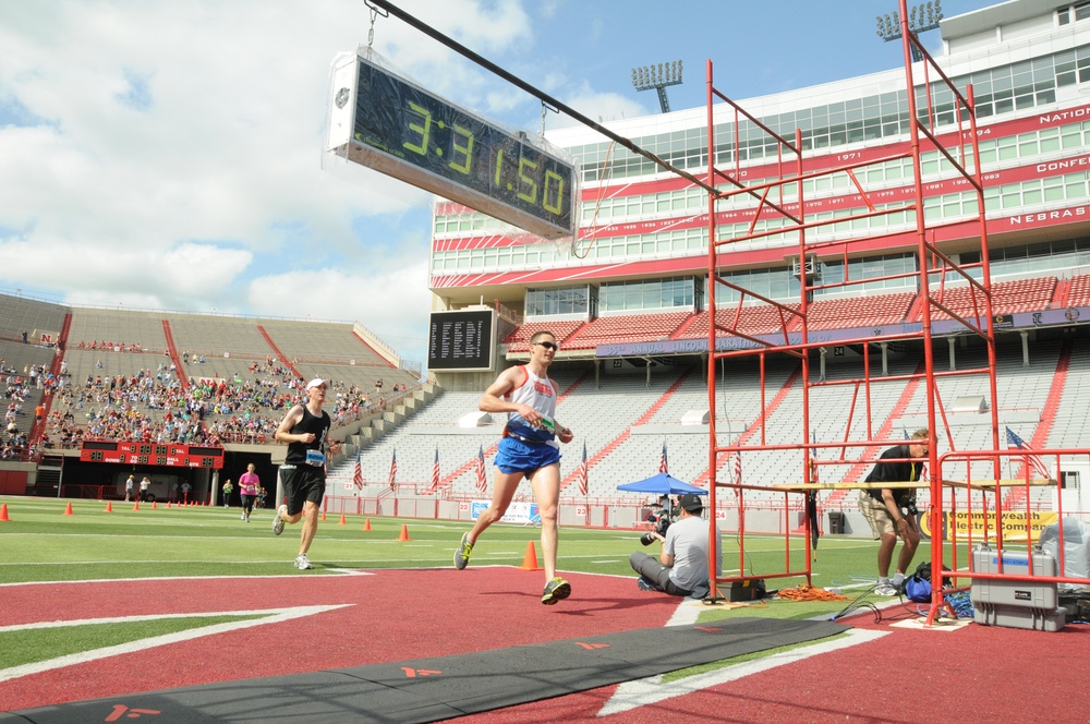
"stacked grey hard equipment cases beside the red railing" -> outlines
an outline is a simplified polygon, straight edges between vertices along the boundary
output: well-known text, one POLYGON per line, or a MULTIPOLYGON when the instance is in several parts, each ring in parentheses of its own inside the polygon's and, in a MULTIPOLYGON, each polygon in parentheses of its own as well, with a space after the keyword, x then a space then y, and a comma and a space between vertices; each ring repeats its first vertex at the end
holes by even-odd
MULTIPOLYGON (((1056 558, 1037 550, 1032 558, 1026 552, 1004 551, 1003 571, 1010 576, 1056 576, 1056 558)), ((1000 572, 1000 554, 985 546, 972 552, 972 569, 981 574, 1000 572)), ((1059 595, 1054 582, 1033 580, 972 580, 969 592, 974 610, 973 620, 985 626, 1028 628, 1038 631, 1058 631, 1066 623, 1065 611, 1059 608, 1059 595)))

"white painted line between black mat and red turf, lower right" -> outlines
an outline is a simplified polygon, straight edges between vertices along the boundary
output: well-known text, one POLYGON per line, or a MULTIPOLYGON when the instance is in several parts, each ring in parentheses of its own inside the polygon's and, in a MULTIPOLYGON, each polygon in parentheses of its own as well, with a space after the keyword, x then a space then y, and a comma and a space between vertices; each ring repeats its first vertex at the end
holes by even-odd
POLYGON ((845 636, 832 641, 823 641, 821 643, 791 649, 790 651, 783 651, 771 656, 765 656, 764 659, 747 661, 728 666, 727 668, 674 680, 668 685, 661 684, 662 676, 652 676, 637 681, 626 681, 617 687, 617 690, 609 698, 609 701, 603 704, 597 715, 608 716, 639 707, 656 704, 674 697, 681 697, 701 689, 727 684, 728 681, 736 681, 746 676, 759 674, 777 666, 783 666, 784 664, 792 664, 810 656, 867 643, 883 636, 888 636, 888 631, 851 629, 845 636))

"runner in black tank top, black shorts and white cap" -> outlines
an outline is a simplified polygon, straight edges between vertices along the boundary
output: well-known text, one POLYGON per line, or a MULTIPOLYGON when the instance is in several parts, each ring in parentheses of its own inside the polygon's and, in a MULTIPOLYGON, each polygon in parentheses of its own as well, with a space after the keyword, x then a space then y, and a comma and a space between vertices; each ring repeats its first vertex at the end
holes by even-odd
POLYGON ((277 508, 272 532, 279 535, 284 523, 303 519, 295 568, 314 568, 306 558, 318 530, 318 507, 326 493, 326 442, 329 415, 323 411, 329 385, 325 379, 306 383, 306 405, 293 405, 276 430, 276 439, 288 443, 288 455, 280 466, 288 503, 277 508))

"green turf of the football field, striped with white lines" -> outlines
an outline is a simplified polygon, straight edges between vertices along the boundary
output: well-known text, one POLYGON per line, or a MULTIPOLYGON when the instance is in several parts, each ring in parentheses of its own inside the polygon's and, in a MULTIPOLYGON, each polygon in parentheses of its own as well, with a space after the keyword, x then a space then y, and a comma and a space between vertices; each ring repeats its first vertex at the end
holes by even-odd
MULTIPOLYGON (((299 527, 288 527, 279 538, 270 530, 272 511, 255 511, 247 524, 240 520, 239 508, 186 507, 152 509, 142 504, 106 504, 97 500, 71 500, 73 515, 64 515, 70 500, 27 497, 2 497, 7 522, 0 522, 0 583, 31 581, 73 581, 116 578, 183 576, 331 576, 342 568, 435 567, 450 566, 453 550, 469 522, 409 518, 370 518, 371 530, 363 530, 364 517, 329 516, 318 526, 311 547, 313 570, 292 566, 299 546, 299 527), (405 527, 409 541, 400 541, 405 527)), ((583 571, 632 577, 633 595, 656 595, 635 588, 635 575, 628 565, 633 551, 657 554, 658 544, 640 545, 639 532, 562 528, 558 567, 561 571, 583 571)), ((496 524, 482 536, 473 551, 472 565, 511 565, 523 563, 529 543, 540 551, 540 530, 528 526, 496 524)), ((740 565, 738 540, 724 535, 724 572, 736 575, 740 565)), ((773 574, 786 570, 788 551, 782 536, 748 535, 747 574, 773 574)), ((868 591, 875 580, 877 544, 865 539, 825 535, 812 564, 813 584, 838 588, 855 599, 879 599, 868 591)), ((803 541, 792 538, 791 568, 804 567, 803 541)), ((916 563, 928 559, 930 546, 921 544, 916 563)), ((541 560, 538 556, 538 562, 541 560)), ((802 578, 768 579, 770 590, 798 586, 802 578)), ((726 616, 771 616, 810 618, 840 611, 846 602, 795 602, 770 599, 744 608, 707 606, 701 620, 726 616)), ((173 619, 171 619, 173 622, 173 619)), ((148 623, 138 626, 84 627, 82 643, 87 648, 110 645, 118 637, 149 636, 162 626, 185 628, 186 619, 173 623, 148 623), (152 626, 157 626, 152 630, 152 626)), ((27 660, 60 655, 71 650, 71 634, 56 637, 45 631, 0 631, 0 669, 27 660), (53 640, 56 639, 56 642, 53 640), (32 652, 33 653, 28 653, 32 652)))

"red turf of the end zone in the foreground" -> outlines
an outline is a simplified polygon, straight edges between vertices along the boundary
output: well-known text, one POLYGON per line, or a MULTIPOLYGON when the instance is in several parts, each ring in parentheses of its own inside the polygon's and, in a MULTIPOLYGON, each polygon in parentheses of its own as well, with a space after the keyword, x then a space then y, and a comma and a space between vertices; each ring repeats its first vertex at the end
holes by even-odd
MULTIPOLYGON (((291 622, 76 663, 0 681, 0 711, 179 686, 467 653, 665 625, 676 600, 632 578, 572 574, 572 596, 543 606, 541 575, 516 568, 56 583, 0 588, 0 626, 130 615, 339 605, 291 622)), ((790 604, 775 604, 790 605, 790 604)), ((746 608, 738 615, 746 616, 746 608)), ((1090 719, 1090 629, 1046 634, 971 625, 907 630, 666 699, 607 722, 1057 722, 1090 719)), ((463 717, 590 721, 617 687, 463 717)))

